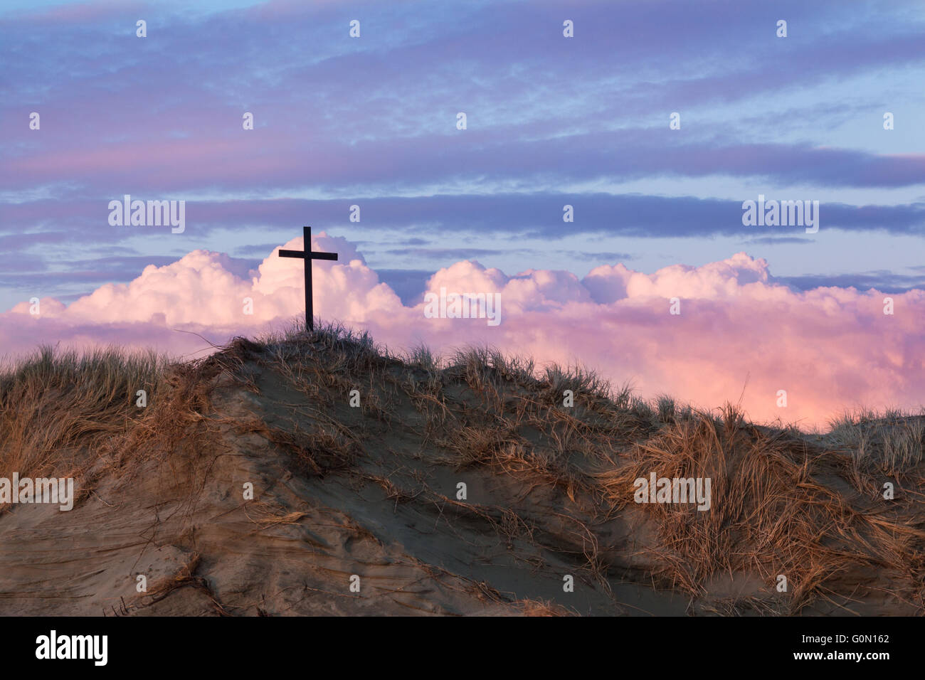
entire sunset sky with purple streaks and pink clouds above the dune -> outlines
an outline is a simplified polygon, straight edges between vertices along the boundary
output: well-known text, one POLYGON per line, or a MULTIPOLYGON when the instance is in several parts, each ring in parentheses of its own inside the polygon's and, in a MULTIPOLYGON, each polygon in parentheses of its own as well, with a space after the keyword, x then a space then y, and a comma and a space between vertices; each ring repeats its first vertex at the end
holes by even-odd
POLYGON ((283 323, 311 225, 341 253, 315 313, 389 346, 804 424, 918 407, 923 30, 921 2, 6 0, 0 353, 283 323), (184 228, 112 224, 126 194, 184 228), (746 224, 759 195, 819 229, 746 224), (428 318, 441 285, 502 323, 428 318))

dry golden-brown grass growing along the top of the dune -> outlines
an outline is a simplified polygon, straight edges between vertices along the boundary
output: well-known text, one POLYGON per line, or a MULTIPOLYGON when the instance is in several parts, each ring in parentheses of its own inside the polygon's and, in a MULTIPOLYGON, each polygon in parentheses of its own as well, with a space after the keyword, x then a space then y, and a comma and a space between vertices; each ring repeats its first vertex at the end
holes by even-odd
MULTIPOLYGON (((786 575, 793 584, 786 611, 798 612, 853 570, 921 576, 922 532, 857 500, 877 498, 883 475, 921 483, 920 414, 845 414, 813 444, 794 428, 752 425, 731 404, 708 413, 667 395, 644 400, 583 366, 537 367, 489 347, 447 356, 423 346, 389 352, 338 324, 235 339, 184 364, 150 352, 43 348, 0 373, 0 476, 80 475, 102 458, 110 469, 128 469, 158 454, 178 464, 177 456, 208 449, 216 386, 256 391, 267 372, 306 395, 302 412, 312 414, 314 429, 233 425, 290 451, 306 474, 350 471, 376 439, 370 424, 402 427, 400 406, 411 403, 424 418, 423 445, 453 464, 560 489, 573 503, 587 573, 604 587, 614 565, 594 527, 630 510, 658 537, 648 548, 660 565, 650 578, 692 596, 720 573, 755 573, 768 584, 786 575), (359 420, 344 408, 357 386, 359 420), (145 408, 135 404, 139 389, 145 408), (573 407, 564 404, 566 390, 573 407), (652 472, 709 476, 711 510, 635 506, 633 482, 652 472), (854 488, 855 501, 823 481, 835 476, 854 488)), ((426 491, 380 481, 397 501, 426 491)), ((469 510, 500 533, 527 531, 513 509, 500 518, 469 510)))

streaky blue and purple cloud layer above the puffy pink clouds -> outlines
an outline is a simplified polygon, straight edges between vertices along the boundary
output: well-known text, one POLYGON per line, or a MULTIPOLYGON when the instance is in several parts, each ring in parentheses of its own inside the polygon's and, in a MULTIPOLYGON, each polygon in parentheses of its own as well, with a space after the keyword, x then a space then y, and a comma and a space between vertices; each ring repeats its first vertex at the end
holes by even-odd
POLYGON ((393 270, 510 270, 514 246, 578 270, 605 240, 651 271, 679 260, 663 239, 706 262, 755 238, 779 273, 783 253, 814 262, 793 276, 919 265, 881 237, 925 229, 920 0, 62 2, 0 5, 4 309, 175 259, 177 241, 109 225, 126 193, 188 202, 184 252, 243 255, 311 216, 381 239, 365 253, 393 270), (819 200, 820 235, 743 225, 759 193, 819 200), (474 232, 496 253, 444 254, 474 232))

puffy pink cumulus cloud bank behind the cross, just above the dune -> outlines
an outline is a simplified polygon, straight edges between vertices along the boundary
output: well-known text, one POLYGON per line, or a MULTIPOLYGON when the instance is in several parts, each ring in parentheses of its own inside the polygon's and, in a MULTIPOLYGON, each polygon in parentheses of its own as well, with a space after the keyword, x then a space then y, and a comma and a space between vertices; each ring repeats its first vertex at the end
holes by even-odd
MULTIPOLYGON (((283 247, 301 249, 302 239, 283 247)), ((437 293, 499 292, 501 323, 492 327, 487 319, 427 318, 424 303, 403 305, 342 238, 321 232, 313 247, 340 257, 314 264, 316 315, 367 328, 394 350, 418 342, 438 352, 488 343, 540 364, 580 362, 616 383, 632 380, 646 397, 667 393, 713 408, 743 394, 759 421, 821 426, 846 407, 925 403, 925 291, 795 292, 774 282, 764 260, 745 253, 653 274, 598 266, 584 279, 533 269, 508 276, 464 261, 427 282, 437 293), (886 297, 894 315, 883 314, 886 297), (672 298, 680 315, 670 314, 672 298), (786 408, 777 406, 780 389, 786 408)), ((201 354, 208 346, 193 333, 222 342, 280 328, 302 312, 301 261, 274 250, 253 274, 239 278, 227 255, 193 251, 68 306, 43 300, 37 316, 29 302, 19 303, 0 314, 0 343, 11 356, 58 340, 201 354), (248 299, 251 315, 244 313, 248 299)))

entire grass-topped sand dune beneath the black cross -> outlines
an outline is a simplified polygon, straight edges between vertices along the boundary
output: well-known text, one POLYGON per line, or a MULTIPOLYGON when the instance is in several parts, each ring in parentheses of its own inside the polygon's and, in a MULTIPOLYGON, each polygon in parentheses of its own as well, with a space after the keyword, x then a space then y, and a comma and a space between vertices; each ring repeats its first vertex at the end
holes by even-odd
POLYGON ((922 611, 906 420, 808 436, 337 328, 178 365, 46 354, 0 407, 0 475, 78 492, 0 506, 0 614, 922 611), (709 477, 709 510, 636 502, 652 473, 709 477))

